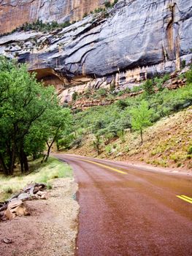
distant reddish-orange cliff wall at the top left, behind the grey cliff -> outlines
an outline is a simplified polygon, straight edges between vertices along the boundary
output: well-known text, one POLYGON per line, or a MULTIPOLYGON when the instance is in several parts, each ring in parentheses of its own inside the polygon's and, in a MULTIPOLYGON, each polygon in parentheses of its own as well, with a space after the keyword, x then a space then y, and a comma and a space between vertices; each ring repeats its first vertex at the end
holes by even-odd
POLYGON ((80 20, 85 13, 104 4, 104 0, 2 0, 0 1, 0 34, 12 31, 34 20, 58 23, 80 20))

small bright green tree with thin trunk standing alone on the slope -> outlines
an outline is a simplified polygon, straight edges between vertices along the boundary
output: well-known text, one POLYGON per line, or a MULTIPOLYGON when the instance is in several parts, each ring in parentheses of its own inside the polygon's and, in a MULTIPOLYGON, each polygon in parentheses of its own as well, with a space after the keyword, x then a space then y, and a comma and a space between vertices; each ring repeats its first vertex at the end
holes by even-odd
POLYGON ((140 132, 141 144, 143 143, 143 129, 150 126, 153 110, 149 109, 146 101, 142 100, 137 108, 131 110, 131 126, 134 130, 140 132))

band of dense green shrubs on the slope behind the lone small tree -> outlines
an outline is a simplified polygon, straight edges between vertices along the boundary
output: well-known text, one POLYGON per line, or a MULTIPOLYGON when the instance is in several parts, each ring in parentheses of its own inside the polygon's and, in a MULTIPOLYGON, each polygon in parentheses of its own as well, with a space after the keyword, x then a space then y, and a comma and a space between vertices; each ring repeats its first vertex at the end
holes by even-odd
MULTIPOLYGON (((167 80, 169 75, 164 75, 158 80, 167 80)), ((157 80, 157 81, 158 81, 157 80)), ((131 109, 138 108, 144 100, 153 113, 150 115, 150 125, 164 116, 182 110, 192 105, 192 84, 177 90, 164 89, 158 93, 140 94, 137 97, 127 97, 118 100, 112 105, 88 108, 79 113, 74 113, 74 129, 83 129, 85 134, 98 134, 103 138, 104 144, 109 144, 120 136, 120 132, 131 128, 131 109)), ((81 135, 82 136, 82 135, 81 135)), ((81 141, 82 143, 83 141, 81 141)))

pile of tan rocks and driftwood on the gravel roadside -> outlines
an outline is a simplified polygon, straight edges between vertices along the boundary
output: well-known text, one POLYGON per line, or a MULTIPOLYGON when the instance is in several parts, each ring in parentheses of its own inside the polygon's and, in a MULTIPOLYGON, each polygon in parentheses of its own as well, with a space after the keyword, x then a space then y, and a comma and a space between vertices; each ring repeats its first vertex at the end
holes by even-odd
POLYGON ((29 184, 18 194, 13 195, 9 200, 0 203, 0 219, 14 219, 17 216, 30 215, 26 200, 47 199, 45 184, 29 184))

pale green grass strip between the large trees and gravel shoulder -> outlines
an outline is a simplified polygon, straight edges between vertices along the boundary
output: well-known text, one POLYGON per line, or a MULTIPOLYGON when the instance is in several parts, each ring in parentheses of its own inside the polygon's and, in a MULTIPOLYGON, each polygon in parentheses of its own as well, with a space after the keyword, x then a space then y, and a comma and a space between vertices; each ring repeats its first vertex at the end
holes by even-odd
POLYGON ((54 178, 72 177, 72 168, 58 159, 50 157, 46 163, 41 164, 40 162, 41 159, 31 162, 33 171, 28 175, 15 177, 0 175, 0 201, 7 200, 12 194, 23 189, 31 182, 45 183, 47 188, 51 189, 54 178))

